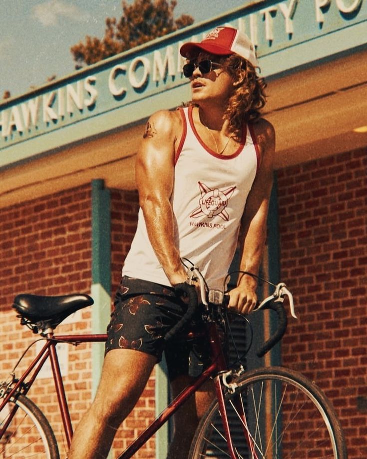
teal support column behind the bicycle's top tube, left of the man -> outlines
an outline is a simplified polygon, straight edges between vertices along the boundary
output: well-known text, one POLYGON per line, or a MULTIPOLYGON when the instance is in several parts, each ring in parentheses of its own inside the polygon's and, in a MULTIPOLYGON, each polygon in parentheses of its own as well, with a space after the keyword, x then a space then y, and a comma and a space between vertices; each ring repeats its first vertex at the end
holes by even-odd
MULTIPOLYGON (((92 181, 92 333, 105 333, 111 313, 111 212, 110 192, 103 180, 92 181)), ((92 345, 92 396, 94 398, 104 357, 104 343, 92 345)))

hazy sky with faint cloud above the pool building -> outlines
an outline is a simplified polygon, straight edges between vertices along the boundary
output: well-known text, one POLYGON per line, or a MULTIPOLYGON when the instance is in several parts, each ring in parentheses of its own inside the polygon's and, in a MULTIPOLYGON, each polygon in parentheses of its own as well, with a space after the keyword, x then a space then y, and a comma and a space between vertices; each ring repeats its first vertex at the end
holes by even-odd
MULTIPOLYGON (((131 3, 132 0, 128 0, 131 3)), ((248 0, 177 0, 175 17, 195 22, 222 14, 248 0)), ((120 18, 121 0, 0 0, 0 99, 74 71, 70 47, 86 35, 102 38, 106 17, 120 18)))

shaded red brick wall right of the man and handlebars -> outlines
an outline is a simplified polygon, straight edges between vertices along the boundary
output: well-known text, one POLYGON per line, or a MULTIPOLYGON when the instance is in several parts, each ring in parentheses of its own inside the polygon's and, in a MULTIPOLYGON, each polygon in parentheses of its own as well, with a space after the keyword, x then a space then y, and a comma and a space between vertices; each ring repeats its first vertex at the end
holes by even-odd
POLYGON ((349 457, 367 457, 367 151, 278 173, 281 278, 299 320, 284 365, 321 386, 342 420, 349 457))

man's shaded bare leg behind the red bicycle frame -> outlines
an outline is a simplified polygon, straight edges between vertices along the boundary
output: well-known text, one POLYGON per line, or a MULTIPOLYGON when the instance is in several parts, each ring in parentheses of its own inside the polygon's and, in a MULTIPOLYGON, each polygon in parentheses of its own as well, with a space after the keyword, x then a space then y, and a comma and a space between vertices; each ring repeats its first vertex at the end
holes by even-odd
MULTIPOLYGON (((176 397, 193 378, 181 376, 172 384, 172 395, 176 397)), ((214 384, 210 380, 187 400, 174 416, 174 435, 167 459, 188 459, 191 442, 201 417, 215 397, 214 384)))

